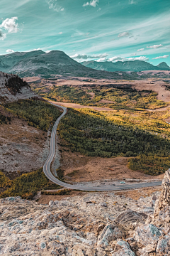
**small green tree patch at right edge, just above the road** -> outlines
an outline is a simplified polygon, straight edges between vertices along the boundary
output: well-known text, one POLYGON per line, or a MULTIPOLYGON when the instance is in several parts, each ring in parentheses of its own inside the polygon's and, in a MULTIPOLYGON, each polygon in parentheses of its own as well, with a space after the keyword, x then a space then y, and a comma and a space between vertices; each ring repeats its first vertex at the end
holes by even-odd
POLYGON ((147 156, 141 154, 129 159, 128 167, 133 171, 142 171, 145 174, 157 176, 164 174, 170 168, 170 156, 147 156))

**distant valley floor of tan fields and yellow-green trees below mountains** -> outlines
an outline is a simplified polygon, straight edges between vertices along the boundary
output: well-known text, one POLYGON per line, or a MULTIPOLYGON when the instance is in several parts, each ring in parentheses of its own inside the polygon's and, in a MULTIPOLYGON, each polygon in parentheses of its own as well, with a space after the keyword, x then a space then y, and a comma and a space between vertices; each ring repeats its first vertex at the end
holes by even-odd
MULTIPOLYGON (((36 78, 35 78, 36 79, 36 78)), ((47 100, 64 103, 65 107, 92 106, 109 109, 159 109, 170 102, 169 83, 164 79, 94 80, 72 78, 39 79, 30 87, 47 100), (139 92, 142 92, 142 95, 139 92), (69 105, 70 104, 70 105, 69 105), (79 104, 79 105, 73 105, 79 104)))

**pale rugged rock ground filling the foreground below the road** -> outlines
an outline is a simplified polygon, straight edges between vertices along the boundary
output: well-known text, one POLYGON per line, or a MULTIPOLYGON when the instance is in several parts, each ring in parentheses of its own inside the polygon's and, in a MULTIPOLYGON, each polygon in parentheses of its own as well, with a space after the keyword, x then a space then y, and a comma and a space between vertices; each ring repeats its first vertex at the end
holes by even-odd
POLYGON ((0 202, 0 255, 170 255, 170 169, 162 193, 138 201, 89 193, 49 206, 0 202))

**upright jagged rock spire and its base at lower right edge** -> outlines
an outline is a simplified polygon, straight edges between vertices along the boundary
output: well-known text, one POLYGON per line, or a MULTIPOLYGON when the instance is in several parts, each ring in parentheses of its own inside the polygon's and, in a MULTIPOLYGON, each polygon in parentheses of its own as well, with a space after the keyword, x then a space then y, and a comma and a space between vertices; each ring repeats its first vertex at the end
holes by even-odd
MULTIPOLYGON (((139 255, 169 255, 170 253, 170 169, 162 181, 162 192, 151 199, 153 215, 148 215, 145 225, 135 229, 133 241, 138 243, 139 255), (140 246, 139 246, 140 245, 140 246)), ((137 254, 138 255, 138 254, 137 254)))

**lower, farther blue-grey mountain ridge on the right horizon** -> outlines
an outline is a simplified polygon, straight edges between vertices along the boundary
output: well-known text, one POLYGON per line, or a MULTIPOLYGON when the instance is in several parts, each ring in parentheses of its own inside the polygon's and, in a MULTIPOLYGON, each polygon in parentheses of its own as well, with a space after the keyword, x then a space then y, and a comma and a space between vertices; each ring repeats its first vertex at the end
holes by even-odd
POLYGON ((139 72, 144 70, 170 70, 170 67, 166 63, 160 63, 154 66, 143 60, 133 60, 133 61, 118 61, 116 63, 112 62, 97 62, 94 60, 84 61, 81 63, 88 68, 94 68, 96 70, 106 70, 110 72, 114 71, 133 71, 139 72))

